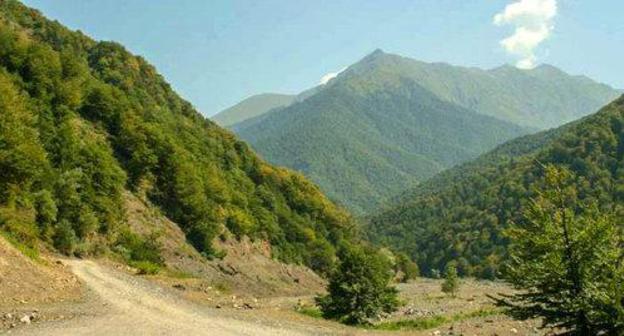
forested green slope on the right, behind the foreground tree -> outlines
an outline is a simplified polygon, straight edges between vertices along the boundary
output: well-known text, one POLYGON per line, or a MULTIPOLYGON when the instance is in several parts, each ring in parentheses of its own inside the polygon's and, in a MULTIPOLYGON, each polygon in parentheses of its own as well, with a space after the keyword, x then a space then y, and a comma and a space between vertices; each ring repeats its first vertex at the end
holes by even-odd
POLYGON ((543 167, 575 173, 578 195, 622 212, 624 96, 560 128, 512 140, 405 193, 369 218, 369 237, 409 253, 434 274, 450 260, 492 278, 505 258, 501 231, 543 185, 543 167))

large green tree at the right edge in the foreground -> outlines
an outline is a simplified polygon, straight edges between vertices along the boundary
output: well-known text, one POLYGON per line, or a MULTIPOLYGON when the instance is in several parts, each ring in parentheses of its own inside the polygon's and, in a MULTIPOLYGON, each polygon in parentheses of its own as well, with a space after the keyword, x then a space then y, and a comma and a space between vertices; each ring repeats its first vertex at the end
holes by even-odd
POLYGON ((622 335, 620 228, 610 213, 579 200, 568 170, 546 166, 544 182, 525 221, 507 230, 512 243, 503 275, 521 292, 497 303, 514 317, 539 317, 565 334, 622 335))

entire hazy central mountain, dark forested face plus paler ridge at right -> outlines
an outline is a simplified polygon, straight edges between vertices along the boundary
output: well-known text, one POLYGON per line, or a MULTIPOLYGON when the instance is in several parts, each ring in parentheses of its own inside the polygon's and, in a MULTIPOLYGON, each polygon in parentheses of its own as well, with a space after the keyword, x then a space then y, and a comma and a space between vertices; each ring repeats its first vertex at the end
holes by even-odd
POLYGON ((481 70, 377 50, 306 96, 230 128, 363 214, 504 141, 594 112, 617 91, 551 66, 481 70))

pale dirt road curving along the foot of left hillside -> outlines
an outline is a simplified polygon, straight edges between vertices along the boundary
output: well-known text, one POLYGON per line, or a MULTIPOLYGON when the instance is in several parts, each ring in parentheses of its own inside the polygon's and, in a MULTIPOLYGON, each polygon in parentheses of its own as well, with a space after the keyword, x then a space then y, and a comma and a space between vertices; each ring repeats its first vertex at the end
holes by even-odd
MULTIPOLYGON (((67 263, 96 297, 93 314, 44 322, 14 335, 319 335, 303 326, 233 318, 93 261, 67 263), (91 316, 89 316, 91 315, 91 316)), ((88 306, 88 305, 87 305, 88 306)))

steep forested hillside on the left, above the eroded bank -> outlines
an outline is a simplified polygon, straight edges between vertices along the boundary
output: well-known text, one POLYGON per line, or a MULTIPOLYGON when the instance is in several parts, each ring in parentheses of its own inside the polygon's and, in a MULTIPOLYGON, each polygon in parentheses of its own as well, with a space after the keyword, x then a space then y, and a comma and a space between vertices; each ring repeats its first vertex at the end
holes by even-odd
POLYGON ((315 185, 264 163, 143 58, 0 1, 0 232, 68 254, 149 247, 126 233, 124 189, 208 257, 217 237, 248 235, 322 271, 352 236, 315 185))

